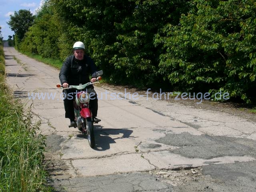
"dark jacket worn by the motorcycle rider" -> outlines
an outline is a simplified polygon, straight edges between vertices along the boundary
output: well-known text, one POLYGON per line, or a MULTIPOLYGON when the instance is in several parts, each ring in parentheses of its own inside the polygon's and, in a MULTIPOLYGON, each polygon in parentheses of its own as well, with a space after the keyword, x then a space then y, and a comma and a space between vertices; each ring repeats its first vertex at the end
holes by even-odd
POLYGON ((96 71, 96 65, 89 56, 84 55, 83 60, 77 60, 74 55, 71 55, 66 58, 60 69, 60 83, 86 84, 90 82, 90 74, 92 78, 97 78, 96 71))

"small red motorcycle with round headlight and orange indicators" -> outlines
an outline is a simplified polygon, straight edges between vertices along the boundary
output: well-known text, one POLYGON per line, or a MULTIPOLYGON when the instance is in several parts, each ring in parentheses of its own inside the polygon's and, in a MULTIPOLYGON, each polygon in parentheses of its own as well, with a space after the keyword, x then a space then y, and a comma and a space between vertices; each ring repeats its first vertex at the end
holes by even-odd
MULTIPOLYGON (((92 112, 89 108, 89 101, 90 96, 88 92, 86 92, 86 89, 88 86, 99 83, 99 80, 101 80, 101 75, 103 74, 103 71, 96 72, 97 75, 97 82, 88 82, 86 84, 79 84, 79 85, 70 85, 68 88, 64 89, 70 89, 74 88, 78 90, 76 94, 76 98, 74 99, 74 113, 75 113, 75 120, 76 120, 76 126, 78 127, 78 130, 80 130, 85 136, 87 136, 89 145, 91 148, 95 145, 95 139, 94 139, 94 126, 93 126, 93 117, 92 112)), ((61 84, 56 85, 57 88, 62 88, 61 84)), ((70 126, 69 126, 70 127, 70 126)))

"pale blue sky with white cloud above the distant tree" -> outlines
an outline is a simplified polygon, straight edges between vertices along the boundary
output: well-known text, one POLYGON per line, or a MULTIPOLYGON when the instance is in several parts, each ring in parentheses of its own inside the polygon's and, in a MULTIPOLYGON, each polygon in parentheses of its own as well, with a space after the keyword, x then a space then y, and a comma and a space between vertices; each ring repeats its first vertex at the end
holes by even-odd
POLYGON ((14 34, 6 23, 10 20, 10 14, 14 15, 14 11, 18 12, 20 9, 30 10, 32 14, 35 14, 43 2, 44 0, 0 0, 0 26, 4 40, 7 40, 9 35, 14 34))

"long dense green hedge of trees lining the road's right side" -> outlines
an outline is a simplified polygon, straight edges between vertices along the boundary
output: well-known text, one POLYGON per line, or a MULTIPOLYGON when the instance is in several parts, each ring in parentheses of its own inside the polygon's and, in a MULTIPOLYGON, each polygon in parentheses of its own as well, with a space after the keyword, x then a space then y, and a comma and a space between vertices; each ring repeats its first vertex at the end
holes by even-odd
POLYGON ((82 41, 112 83, 255 100, 255 0, 47 0, 21 48, 61 58, 82 41))

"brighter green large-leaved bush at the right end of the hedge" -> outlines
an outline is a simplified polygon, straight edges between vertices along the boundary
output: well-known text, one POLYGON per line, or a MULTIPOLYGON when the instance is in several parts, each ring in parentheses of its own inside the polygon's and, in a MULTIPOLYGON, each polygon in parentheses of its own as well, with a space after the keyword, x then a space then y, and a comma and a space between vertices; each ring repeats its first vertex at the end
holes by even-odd
POLYGON ((163 44, 160 72, 172 84, 229 92, 249 101, 256 75, 256 2, 194 0, 180 24, 156 35, 163 44))

